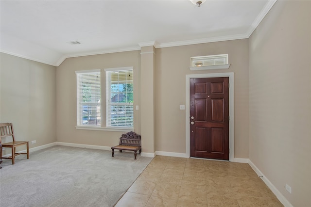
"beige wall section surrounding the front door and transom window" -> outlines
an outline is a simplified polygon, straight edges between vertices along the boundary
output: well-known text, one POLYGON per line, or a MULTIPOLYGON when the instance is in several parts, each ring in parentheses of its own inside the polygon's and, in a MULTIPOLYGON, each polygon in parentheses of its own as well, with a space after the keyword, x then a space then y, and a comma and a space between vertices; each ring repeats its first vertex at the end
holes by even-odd
POLYGON ((234 157, 248 158, 248 40, 158 48, 155 51, 156 150, 186 152, 186 75, 234 72, 234 157), (190 71, 190 57, 228 54, 229 69, 190 71))

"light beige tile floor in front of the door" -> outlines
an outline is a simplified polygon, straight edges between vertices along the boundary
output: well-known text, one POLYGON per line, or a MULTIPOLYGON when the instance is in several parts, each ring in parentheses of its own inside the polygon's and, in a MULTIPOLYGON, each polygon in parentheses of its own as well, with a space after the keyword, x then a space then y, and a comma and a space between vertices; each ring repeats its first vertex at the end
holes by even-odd
POLYGON ((283 207, 247 163, 156 156, 115 207, 283 207))

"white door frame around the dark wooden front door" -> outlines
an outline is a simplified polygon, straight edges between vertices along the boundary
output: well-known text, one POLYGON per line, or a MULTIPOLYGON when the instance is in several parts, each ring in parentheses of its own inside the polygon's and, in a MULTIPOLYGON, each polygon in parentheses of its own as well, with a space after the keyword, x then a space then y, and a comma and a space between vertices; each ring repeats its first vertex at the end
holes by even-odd
POLYGON ((229 161, 234 161, 234 73, 186 75, 186 157, 190 158, 190 79, 229 77, 229 161))

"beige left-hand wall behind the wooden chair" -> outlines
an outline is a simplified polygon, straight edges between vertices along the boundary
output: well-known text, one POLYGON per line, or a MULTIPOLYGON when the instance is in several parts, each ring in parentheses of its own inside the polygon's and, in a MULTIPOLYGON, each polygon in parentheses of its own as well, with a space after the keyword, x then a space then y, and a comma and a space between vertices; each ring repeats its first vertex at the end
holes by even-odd
POLYGON ((17 141, 36 140, 30 148, 55 142, 56 67, 5 53, 0 59, 1 123, 13 123, 17 141))

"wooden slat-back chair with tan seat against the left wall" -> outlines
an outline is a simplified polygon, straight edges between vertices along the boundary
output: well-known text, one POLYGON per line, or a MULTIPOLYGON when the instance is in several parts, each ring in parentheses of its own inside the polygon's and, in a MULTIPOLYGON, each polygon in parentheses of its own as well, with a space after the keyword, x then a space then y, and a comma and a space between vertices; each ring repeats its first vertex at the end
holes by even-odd
POLYGON ((12 123, 2 123, 0 124, 0 132, 1 132, 1 152, 0 152, 0 159, 12 159, 12 164, 15 163, 15 156, 17 155, 27 155, 27 159, 29 159, 29 141, 15 141, 13 125, 12 123), (2 138, 12 136, 13 142, 9 143, 2 143, 2 138), (16 147, 25 145, 27 146, 27 153, 16 153, 16 147), (2 147, 10 147, 12 149, 12 156, 10 157, 2 157, 2 147))

